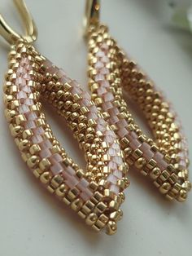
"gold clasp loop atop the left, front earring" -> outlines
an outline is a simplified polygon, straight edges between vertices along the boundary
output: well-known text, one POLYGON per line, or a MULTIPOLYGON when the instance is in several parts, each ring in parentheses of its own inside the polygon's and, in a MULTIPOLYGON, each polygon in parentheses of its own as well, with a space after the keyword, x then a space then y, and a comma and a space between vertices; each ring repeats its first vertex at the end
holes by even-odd
POLYGON ((7 24, 6 20, 3 19, 0 14, 0 34, 3 38, 7 40, 10 44, 14 44, 17 40, 23 38, 27 42, 33 42, 37 39, 37 27, 34 23, 33 17, 28 11, 24 0, 13 0, 15 6, 17 7, 22 20, 24 21, 24 26, 26 29, 26 34, 21 36, 19 33, 16 33, 14 29, 7 24))

